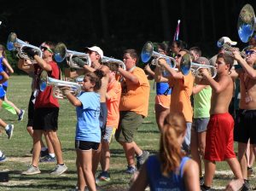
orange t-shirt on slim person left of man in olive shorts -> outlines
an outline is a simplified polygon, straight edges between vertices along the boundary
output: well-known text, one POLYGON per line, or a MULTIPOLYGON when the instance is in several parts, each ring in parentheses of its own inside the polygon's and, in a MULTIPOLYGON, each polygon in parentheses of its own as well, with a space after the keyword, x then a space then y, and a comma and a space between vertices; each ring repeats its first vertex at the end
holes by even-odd
POLYGON ((114 80, 108 84, 107 93, 110 97, 106 100, 108 108, 107 126, 117 128, 119 125, 119 102, 121 96, 121 84, 114 80))

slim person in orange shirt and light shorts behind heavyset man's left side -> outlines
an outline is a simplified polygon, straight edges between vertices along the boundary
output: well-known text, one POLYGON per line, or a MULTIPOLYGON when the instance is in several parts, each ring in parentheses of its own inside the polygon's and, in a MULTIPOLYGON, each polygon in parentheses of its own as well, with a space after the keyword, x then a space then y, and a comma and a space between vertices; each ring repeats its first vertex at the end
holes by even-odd
POLYGON ((104 63, 104 65, 109 67, 109 81, 108 90, 106 94, 106 103, 108 107, 108 118, 106 124, 105 134, 102 140, 102 156, 101 165, 102 172, 96 178, 96 183, 101 181, 110 181, 109 175, 109 162, 110 162, 110 150, 109 144, 112 141, 114 133, 119 125, 119 102, 121 96, 121 85, 119 81, 116 80, 116 73, 118 71, 118 65, 115 63, 104 63))

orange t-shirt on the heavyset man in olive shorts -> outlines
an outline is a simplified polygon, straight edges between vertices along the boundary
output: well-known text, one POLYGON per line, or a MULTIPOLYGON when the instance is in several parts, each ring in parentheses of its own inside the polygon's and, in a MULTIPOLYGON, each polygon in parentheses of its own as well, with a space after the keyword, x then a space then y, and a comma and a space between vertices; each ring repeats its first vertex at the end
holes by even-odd
POLYGON ((131 111, 147 117, 150 91, 148 78, 143 69, 139 67, 135 67, 131 74, 139 79, 139 84, 133 84, 129 79, 123 79, 119 111, 131 111))

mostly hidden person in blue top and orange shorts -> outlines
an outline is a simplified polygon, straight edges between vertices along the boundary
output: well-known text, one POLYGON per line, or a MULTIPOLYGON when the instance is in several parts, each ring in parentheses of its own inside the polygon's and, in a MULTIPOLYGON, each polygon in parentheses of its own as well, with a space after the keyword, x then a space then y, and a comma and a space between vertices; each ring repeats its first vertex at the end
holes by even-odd
MULTIPOLYGON (((166 43, 158 44, 158 52, 160 54, 167 55, 167 50, 168 50, 168 46, 166 43)), ((144 70, 148 72, 148 75, 150 77, 154 78, 154 72, 151 70, 148 64, 146 65, 146 67, 144 67, 144 70)), ((172 90, 169 88, 168 83, 156 82, 156 96, 154 98, 154 114, 155 114, 156 124, 159 130, 161 130, 161 127, 164 124, 166 115, 170 113, 171 92, 172 90)))

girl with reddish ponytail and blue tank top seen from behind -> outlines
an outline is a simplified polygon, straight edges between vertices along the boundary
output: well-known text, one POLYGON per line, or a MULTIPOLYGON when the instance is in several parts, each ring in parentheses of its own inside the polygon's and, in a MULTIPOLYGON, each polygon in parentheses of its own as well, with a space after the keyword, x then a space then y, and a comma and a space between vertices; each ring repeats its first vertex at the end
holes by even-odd
POLYGON ((130 190, 200 190, 199 169, 181 149, 186 135, 183 113, 167 115, 160 135, 160 152, 150 156, 130 190))

